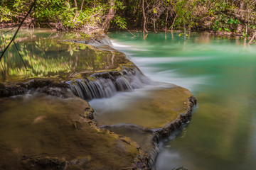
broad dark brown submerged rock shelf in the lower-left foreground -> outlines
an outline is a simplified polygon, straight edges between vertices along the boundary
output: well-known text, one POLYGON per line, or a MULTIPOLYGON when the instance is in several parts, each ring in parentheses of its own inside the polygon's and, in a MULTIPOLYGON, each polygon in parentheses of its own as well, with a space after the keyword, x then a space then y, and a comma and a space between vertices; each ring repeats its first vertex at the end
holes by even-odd
POLYGON ((1 103, 0 169, 146 169, 136 143, 80 116, 92 111, 80 98, 37 94, 1 103))

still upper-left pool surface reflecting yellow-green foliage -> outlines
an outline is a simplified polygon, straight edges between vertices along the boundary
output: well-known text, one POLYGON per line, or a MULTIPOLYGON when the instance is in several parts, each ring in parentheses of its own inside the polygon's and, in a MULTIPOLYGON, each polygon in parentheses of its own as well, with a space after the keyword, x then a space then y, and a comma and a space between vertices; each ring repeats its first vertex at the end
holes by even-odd
MULTIPOLYGON (((1 33, 4 30, 1 30, 1 33)), ((0 51, 4 50, 14 33, 6 33, 0 39, 0 51)), ((94 72, 114 68, 114 52, 94 50, 78 43, 63 42, 76 38, 73 33, 55 33, 49 30, 21 30, 16 45, 29 71, 26 72, 14 45, 9 47, 1 60, 0 79, 24 79, 32 77, 65 78, 75 72, 94 72)))

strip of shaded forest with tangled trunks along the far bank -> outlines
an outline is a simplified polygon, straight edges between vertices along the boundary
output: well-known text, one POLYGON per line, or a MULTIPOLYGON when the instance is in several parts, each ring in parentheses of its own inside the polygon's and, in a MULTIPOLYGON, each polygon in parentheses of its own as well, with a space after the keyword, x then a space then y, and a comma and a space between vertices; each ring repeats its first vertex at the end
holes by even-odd
MULTIPOLYGON (((21 22, 30 0, 2 0, 1 27, 21 22)), ((26 26, 57 30, 209 30, 252 37, 254 0, 38 0, 26 26)))

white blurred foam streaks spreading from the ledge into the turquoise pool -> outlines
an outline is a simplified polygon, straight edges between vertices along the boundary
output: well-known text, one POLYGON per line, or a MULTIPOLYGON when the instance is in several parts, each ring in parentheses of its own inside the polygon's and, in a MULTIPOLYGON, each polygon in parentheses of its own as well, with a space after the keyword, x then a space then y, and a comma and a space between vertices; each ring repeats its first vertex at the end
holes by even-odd
POLYGON ((209 82, 209 77, 184 77, 183 75, 178 74, 178 69, 162 71, 161 67, 156 67, 156 64, 211 60, 215 57, 137 57, 133 53, 136 52, 137 49, 135 48, 134 50, 132 45, 124 45, 122 42, 114 40, 112 40, 112 44, 114 48, 128 55, 129 60, 134 62, 146 77, 149 77, 154 81, 176 84, 178 86, 183 86, 190 91, 194 91, 199 84, 208 84, 209 82), (128 50, 129 52, 127 52, 128 50), (154 66, 151 66, 153 64, 154 66))

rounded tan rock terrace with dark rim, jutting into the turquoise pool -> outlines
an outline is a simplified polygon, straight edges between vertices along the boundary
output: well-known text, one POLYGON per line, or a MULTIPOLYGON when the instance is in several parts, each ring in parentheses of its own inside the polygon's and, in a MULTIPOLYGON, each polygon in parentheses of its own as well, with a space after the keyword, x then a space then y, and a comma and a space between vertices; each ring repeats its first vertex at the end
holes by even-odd
POLYGON ((157 143, 191 120, 196 98, 180 86, 154 88, 145 96, 126 101, 122 108, 97 109, 95 120, 101 128, 130 137, 149 154, 149 164, 159 152, 157 143))

